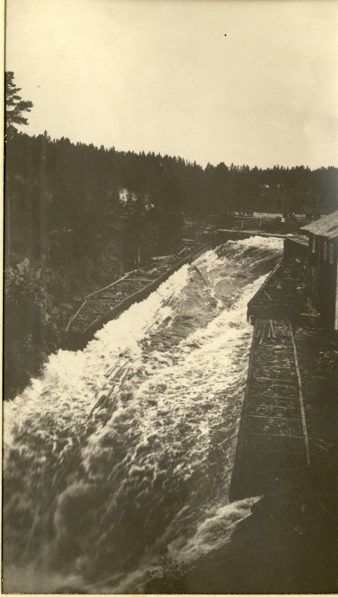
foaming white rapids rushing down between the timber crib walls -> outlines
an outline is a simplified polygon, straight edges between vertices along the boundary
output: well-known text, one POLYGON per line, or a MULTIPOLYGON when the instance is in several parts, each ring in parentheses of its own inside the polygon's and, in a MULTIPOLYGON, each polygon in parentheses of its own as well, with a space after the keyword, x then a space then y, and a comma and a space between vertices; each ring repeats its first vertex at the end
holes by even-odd
POLYGON ((189 564, 229 540, 255 501, 228 500, 247 302, 281 256, 258 237, 208 251, 5 403, 5 592, 141 592, 163 545, 189 564), (107 420, 90 413, 118 361, 107 420))

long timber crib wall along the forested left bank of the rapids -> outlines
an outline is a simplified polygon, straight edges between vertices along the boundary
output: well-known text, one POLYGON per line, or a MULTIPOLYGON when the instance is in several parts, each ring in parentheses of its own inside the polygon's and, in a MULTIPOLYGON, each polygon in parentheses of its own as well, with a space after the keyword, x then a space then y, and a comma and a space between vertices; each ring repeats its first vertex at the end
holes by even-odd
POLYGON ((210 242, 196 242, 193 248, 183 248, 177 254, 152 257, 150 264, 127 272, 112 284, 82 297, 66 327, 70 347, 85 346, 110 319, 121 315, 133 303, 144 300, 177 269, 211 247, 210 242))

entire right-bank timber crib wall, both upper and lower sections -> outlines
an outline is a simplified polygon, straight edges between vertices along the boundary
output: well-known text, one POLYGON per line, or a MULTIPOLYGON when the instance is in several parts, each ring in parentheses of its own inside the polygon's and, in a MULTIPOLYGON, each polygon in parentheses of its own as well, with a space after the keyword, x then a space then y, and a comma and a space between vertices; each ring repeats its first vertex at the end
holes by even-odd
POLYGON ((302 313, 307 275, 306 260, 284 257, 248 303, 254 329, 231 501, 265 493, 273 478, 309 469, 325 451, 311 419, 323 328, 318 315, 302 313))

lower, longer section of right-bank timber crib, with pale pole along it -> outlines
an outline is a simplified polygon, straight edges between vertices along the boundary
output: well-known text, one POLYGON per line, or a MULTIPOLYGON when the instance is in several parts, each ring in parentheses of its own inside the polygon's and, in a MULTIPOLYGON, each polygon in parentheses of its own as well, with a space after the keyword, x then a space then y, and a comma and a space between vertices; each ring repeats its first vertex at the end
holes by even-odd
POLYGON ((257 318, 231 500, 261 493, 272 473, 310 466, 312 439, 291 322, 257 318))

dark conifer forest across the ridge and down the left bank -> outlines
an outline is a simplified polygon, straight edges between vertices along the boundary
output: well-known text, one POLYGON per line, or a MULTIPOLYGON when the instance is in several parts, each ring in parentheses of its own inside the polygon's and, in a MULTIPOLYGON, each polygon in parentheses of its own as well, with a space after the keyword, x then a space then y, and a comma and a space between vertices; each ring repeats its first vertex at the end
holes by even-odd
MULTIPOLYGON (((338 168, 202 168, 19 133, 33 104, 7 73, 5 143, 5 397, 64 343, 72 300, 150 256, 174 253, 186 219, 224 226, 239 212, 338 209, 338 168)), ((26 121, 26 122, 25 122, 26 121)), ((226 142, 226 141, 225 141, 226 142)), ((113 144, 113 139, 112 139, 113 144)))

